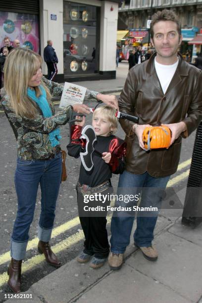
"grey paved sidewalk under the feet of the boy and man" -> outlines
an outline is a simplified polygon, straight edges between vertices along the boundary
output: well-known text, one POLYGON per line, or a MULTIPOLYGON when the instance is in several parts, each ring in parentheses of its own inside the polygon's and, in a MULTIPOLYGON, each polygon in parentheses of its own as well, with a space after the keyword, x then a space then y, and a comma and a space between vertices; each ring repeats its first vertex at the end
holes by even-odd
POLYGON ((158 217, 156 262, 146 260, 131 238, 120 270, 110 270, 107 263, 95 270, 74 259, 32 285, 25 294, 33 300, 14 302, 202 303, 202 226, 181 225, 177 212, 178 217, 158 217))

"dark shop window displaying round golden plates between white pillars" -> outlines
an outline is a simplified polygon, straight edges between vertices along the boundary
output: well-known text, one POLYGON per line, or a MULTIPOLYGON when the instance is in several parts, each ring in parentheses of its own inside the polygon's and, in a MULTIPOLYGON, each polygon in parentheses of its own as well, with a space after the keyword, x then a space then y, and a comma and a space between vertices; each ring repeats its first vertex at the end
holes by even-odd
POLYGON ((98 70, 97 9, 93 5, 63 1, 64 76, 98 70))

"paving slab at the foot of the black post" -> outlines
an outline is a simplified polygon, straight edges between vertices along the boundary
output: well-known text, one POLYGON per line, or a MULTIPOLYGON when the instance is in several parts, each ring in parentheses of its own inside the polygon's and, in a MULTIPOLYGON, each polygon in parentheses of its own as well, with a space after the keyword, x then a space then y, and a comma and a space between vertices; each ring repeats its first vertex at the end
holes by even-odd
POLYGON ((191 228, 183 225, 181 219, 169 228, 169 232, 202 247, 202 224, 196 228, 191 228))

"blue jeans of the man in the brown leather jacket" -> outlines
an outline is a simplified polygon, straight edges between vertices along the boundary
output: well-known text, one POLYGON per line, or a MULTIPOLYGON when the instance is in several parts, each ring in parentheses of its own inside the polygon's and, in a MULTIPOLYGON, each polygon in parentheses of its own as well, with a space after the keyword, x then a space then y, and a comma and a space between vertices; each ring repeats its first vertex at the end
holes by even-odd
MULTIPOLYGON (((142 206, 159 206, 161 197, 157 190, 151 188, 165 189, 170 176, 163 178, 153 178, 148 172, 140 175, 131 174, 124 171, 119 177, 118 195, 121 192, 133 191, 133 195, 141 192, 138 188, 143 188, 141 193, 141 207, 142 206), (128 190, 124 190, 128 188, 128 190), (130 188, 130 189, 129 189, 130 188)), ((132 192, 130 192, 132 194, 132 192)), ((126 205, 127 206, 127 205, 126 205)), ((157 214, 153 213, 151 216, 139 215, 137 216, 137 228, 134 233, 134 241, 140 247, 149 247, 152 245, 153 230, 156 224, 157 214)), ((111 220, 111 252, 124 253, 126 247, 130 243, 130 235, 133 227, 133 216, 115 216, 113 214, 111 220)))

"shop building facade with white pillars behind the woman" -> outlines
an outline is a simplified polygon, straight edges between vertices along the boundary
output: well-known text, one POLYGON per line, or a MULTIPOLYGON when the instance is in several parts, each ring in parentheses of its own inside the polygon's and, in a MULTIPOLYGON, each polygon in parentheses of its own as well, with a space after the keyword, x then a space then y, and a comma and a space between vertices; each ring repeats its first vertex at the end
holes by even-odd
MULTIPOLYGON (((43 57, 52 40, 58 57, 55 81, 114 79, 119 0, 6 0, 0 5, 3 38, 43 57)), ((42 70, 47 74, 47 66, 42 70)))

